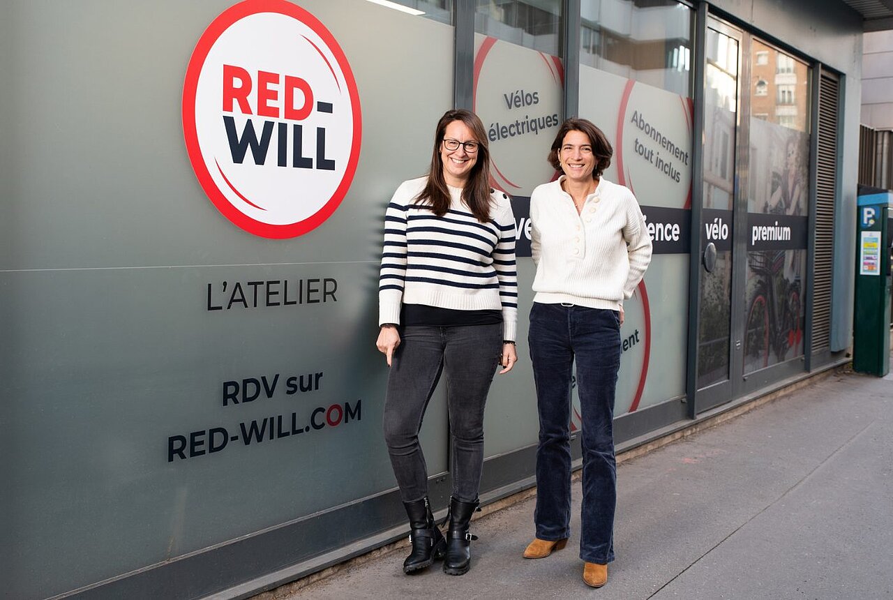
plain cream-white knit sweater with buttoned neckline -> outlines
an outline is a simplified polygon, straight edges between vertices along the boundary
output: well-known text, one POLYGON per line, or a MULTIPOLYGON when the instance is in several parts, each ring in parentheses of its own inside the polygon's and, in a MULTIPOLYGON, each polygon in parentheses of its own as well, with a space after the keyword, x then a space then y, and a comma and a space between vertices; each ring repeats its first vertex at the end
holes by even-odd
POLYGON ((617 310, 651 262, 642 211, 628 188, 603 177, 578 214, 563 179, 530 196, 533 301, 617 310))

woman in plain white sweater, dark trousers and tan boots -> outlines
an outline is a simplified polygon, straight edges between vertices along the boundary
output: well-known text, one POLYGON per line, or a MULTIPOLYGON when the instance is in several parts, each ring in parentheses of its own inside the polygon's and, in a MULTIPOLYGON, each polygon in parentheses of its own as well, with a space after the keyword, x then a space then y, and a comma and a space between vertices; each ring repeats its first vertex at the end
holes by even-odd
POLYGON ((616 467, 613 404, 620 367, 623 300, 651 261, 651 237, 636 198, 602 173, 613 149, 585 119, 558 130, 549 162, 562 175, 530 197, 537 264, 530 311, 530 358, 537 387, 536 537, 525 558, 567 544, 571 520, 571 371, 577 366, 583 450, 580 558, 591 587, 613 561, 616 467))

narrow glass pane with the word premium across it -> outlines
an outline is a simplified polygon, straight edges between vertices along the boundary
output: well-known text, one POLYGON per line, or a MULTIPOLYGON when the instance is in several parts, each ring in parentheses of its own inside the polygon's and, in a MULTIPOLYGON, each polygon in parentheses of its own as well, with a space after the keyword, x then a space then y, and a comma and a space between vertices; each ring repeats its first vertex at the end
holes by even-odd
POLYGON ((809 206, 809 67, 758 39, 753 46, 745 373, 804 353, 809 206))

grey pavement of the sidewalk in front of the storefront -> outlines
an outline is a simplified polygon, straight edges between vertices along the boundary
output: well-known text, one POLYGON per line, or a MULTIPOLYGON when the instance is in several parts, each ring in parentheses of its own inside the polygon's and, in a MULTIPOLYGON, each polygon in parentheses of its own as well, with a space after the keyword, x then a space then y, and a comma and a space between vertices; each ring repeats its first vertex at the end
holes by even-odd
POLYGON ((893 375, 835 372, 618 468, 608 583, 571 541, 522 558, 531 498, 472 522, 472 570, 407 576, 405 549, 275 598, 893 599, 893 375))

